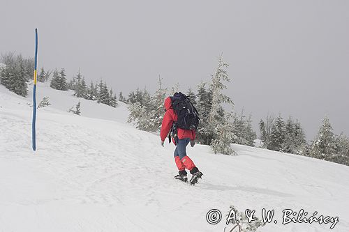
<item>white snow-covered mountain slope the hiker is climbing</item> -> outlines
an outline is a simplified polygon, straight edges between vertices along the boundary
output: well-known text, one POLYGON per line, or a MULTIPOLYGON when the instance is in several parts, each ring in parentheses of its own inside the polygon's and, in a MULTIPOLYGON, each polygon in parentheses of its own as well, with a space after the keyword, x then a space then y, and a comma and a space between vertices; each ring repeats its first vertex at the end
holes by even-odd
MULTIPOLYGON (((29 87, 30 89, 30 87, 29 87)), ((38 86, 37 148, 31 150, 30 98, 0 86, 0 231, 224 231, 229 206, 275 210, 258 231, 330 231, 331 224, 283 225, 282 210, 339 217, 349 231, 349 167, 233 145, 237 156, 188 148, 205 174, 174 180, 174 146, 125 123, 127 109, 38 86), (82 116, 66 110, 82 102, 82 116), (211 209, 223 219, 207 223, 211 209)), ((29 96, 31 93, 29 93, 29 96)), ((231 228, 231 226, 227 227, 231 228)), ((228 230, 227 230, 228 231, 228 230)))

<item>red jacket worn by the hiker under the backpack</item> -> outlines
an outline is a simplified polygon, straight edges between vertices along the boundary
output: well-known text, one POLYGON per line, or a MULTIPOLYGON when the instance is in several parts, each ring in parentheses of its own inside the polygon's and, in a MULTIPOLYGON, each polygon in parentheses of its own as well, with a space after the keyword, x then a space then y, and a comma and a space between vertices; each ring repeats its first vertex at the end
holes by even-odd
MULTIPOLYGON (((166 137, 168 136, 168 132, 170 132, 172 128, 172 123, 177 121, 177 114, 172 109, 170 97, 165 99, 165 109, 166 109, 166 112, 165 112, 165 115, 163 116, 163 124, 161 125, 161 131, 160 131, 161 141, 165 141, 166 137)), ((184 129, 178 128, 177 134, 178 134, 178 139, 185 139, 185 138, 189 138, 191 140, 195 139, 195 130, 184 130, 184 129)), ((174 143, 173 138, 172 138, 172 141, 174 143)))

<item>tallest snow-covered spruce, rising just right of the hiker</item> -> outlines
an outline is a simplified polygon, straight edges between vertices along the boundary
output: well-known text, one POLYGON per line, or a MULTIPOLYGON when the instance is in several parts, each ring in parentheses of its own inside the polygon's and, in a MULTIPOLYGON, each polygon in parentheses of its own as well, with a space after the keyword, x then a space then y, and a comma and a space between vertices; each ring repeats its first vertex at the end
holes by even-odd
POLYGON ((235 135, 232 132, 232 127, 230 127, 231 116, 225 116, 223 109, 223 104, 233 105, 232 100, 227 95, 222 93, 223 89, 227 88, 223 82, 230 82, 227 72, 228 64, 224 63, 223 57, 218 58, 218 66, 214 75, 211 75, 211 85, 212 90, 212 105, 211 111, 208 115, 208 126, 209 131, 214 132, 214 138, 212 139, 211 148, 216 153, 218 150, 223 151, 225 155, 232 155, 233 150, 230 148, 232 139, 235 135), (224 129, 228 127, 229 130, 224 129), (229 139, 231 139, 229 141, 229 139), (218 148, 218 146, 221 146, 218 148))

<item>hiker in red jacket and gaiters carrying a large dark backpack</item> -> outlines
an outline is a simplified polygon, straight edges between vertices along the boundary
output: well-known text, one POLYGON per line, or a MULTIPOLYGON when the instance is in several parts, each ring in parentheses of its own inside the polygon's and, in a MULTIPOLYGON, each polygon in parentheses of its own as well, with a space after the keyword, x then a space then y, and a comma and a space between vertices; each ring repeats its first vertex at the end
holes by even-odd
MULTIPOLYGON (((201 178, 202 173, 199 171, 198 167, 195 166, 193 160, 191 160, 191 158, 188 157, 188 155, 186 155, 186 146, 189 143, 191 144, 191 147, 195 145, 195 129, 198 126, 198 122, 200 119, 198 118, 198 111, 196 111, 195 107, 193 107, 190 101, 188 100, 187 102, 189 103, 186 104, 190 104, 191 109, 195 109, 195 116, 198 119, 195 119, 194 121, 197 121, 197 123, 195 125, 195 129, 192 130, 180 128, 183 126, 180 126, 181 122, 177 120, 179 120, 179 118, 183 118, 183 116, 178 117, 178 115, 182 113, 179 113, 179 111, 174 110, 175 107, 173 107, 172 105, 174 105, 174 100, 177 100, 176 103, 179 103, 183 99, 188 100, 186 95, 182 93, 175 93, 173 97, 168 97, 165 99, 165 115, 163 116, 163 123, 161 125, 160 133, 161 146, 163 146, 168 133, 170 132, 170 130, 172 130, 172 141, 174 145, 176 145, 176 149, 174 150, 174 162, 176 162, 177 168, 179 170, 179 174, 177 176, 174 176, 174 178, 187 182, 188 178, 186 177, 186 169, 188 169, 190 173, 193 175, 190 183, 191 185, 195 185, 196 183, 198 183, 198 179, 201 178)), ((182 109, 185 108, 185 106, 183 107, 183 104, 181 106, 182 109)), ((184 111, 187 112, 189 110, 184 111)))

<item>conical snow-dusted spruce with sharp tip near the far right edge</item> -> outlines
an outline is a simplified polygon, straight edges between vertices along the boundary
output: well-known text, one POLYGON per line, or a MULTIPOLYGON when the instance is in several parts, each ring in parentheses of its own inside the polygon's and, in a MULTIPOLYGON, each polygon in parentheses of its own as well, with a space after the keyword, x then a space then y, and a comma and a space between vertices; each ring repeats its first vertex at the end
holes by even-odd
POLYGON ((311 145, 310 156, 320 160, 331 160, 335 154, 334 133, 329 118, 326 115, 322 121, 322 125, 311 145))

